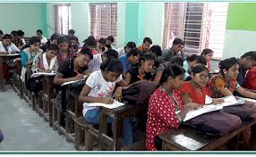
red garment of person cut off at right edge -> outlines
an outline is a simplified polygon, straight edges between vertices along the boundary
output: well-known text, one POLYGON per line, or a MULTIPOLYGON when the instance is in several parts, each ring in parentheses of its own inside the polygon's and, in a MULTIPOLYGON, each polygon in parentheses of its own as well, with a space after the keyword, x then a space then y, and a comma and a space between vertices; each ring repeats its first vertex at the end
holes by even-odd
POLYGON ((252 67, 246 74, 244 86, 247 89, 256 91, 256 66, 252 67))

